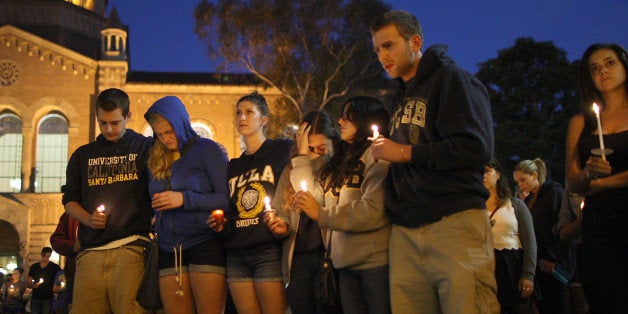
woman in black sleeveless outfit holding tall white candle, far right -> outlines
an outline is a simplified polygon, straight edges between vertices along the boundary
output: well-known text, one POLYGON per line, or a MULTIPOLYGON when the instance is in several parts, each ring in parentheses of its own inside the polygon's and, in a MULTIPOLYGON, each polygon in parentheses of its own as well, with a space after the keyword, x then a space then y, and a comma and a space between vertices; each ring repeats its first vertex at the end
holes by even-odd
POLYGON ((592 313, 620 313, 628 308, 627 69, 622 46, 587 48, 579 68, 585 112, 571 118, 567 131, 567 182, 571 191, 585 195, 578 270, 592 313), (591 111, 593 103, 599 107, 601 135, 591 111), (600 137, 613 153, 600 155, 600 137))

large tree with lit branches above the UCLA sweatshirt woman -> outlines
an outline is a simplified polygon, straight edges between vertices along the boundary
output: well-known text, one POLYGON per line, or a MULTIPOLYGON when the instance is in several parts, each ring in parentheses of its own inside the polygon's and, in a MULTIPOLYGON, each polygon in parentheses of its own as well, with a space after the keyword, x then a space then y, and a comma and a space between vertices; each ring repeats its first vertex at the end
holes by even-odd
POLYGON ((379 0, 202 0, 195 32, 221 70, 255 74, 301 117, 355 91, 377 96, 371 87, 385 78, 369 27, 389 9, 379 0))

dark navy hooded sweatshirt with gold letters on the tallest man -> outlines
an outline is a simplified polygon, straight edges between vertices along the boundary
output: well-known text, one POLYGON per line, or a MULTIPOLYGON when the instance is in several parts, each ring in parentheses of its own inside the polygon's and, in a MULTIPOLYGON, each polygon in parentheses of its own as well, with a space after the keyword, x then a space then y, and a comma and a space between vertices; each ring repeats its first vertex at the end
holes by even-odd
POLYGON ((412 145, 412 160, 390 165, 386 206, 396 225, 415 228, 486 208, 482 182, 493 154, 488 93, 445 52, 442 45, 428 48, 417 74, 399 80, 390 138, 412 145))

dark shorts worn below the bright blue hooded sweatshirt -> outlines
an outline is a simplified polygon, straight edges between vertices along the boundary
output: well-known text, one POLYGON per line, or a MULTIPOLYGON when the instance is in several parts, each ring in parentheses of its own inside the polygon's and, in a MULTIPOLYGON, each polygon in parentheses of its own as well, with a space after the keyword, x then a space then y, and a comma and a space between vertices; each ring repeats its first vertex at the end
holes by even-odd
MULTIPOLYGON (((225 274, 225 250, 222 242, 211 239, 183 250, 183 272, 225 274)), ((175 255, 159 250, 159 277, 175 275, 175 255)))

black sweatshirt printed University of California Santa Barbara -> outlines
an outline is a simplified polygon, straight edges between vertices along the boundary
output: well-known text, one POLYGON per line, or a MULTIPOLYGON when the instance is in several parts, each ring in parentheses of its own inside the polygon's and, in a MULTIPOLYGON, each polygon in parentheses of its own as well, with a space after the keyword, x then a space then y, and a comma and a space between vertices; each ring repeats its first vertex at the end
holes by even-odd
POLYGON ((79 224, 81 249, 148 236, 151 209, 146 161, 151 143, 152 138, 126 129, 116 142, 100 134, 72 153, 61 188, 63 205, 77 202, 90 214, 104 205, 107 215, 104 229, 79 224))

